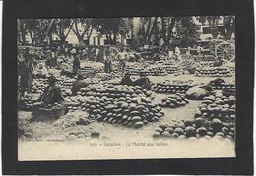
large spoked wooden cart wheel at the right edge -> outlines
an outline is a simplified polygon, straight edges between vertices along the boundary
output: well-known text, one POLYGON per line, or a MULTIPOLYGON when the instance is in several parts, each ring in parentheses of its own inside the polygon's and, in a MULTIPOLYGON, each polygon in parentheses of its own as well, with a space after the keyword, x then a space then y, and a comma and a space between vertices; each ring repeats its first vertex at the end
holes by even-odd
POLYGON ((215 47, 215 55, 224 62, 233 60, 235 57, 234 45, 227 41, 223 41, 215 47))

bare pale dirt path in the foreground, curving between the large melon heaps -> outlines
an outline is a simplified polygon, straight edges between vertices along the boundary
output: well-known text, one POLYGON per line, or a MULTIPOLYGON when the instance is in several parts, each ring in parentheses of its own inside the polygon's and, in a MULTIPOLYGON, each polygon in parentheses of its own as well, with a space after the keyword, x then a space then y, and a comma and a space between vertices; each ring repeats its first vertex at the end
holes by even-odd
MULTIPOLYGON (((161 95, 163 96, 163 95, 161 95)), ((159 97, 160 99, 161 97, 159 97)), ((93 122, 89 125, 77 125, 70 128, 62 129, 61 127, 54 126, 53 122, 32 122, 30 128, 32 129, 32 139, 49 140, 49 139, 66 139, 70 133, 84 133, 91 134, 92 132, 99 132, 102 138, 115 139, 115 138, 130 138, 136 137, 151 139, 153 132, 160 125, 174 125, 181 123, 182 120, 193 119, 196 108, 200 101, 190 101, 186 106, 169 109, 163 108, 165 115, 160 118, 160 121, 153 122, 145 125, 141 129, 127 128, 119 124, 109 124, 105 122, 93 122)), ((19 118, 30 119, 32 118, 31 112, 20 111, 19 118)), ((31 140, 32 140, 31 139, 31 140)))

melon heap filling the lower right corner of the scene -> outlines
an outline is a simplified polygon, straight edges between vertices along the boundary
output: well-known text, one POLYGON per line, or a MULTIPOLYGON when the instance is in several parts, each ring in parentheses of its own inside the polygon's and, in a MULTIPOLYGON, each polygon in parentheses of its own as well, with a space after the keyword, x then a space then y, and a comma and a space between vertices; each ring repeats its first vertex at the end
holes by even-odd
POLYGON ((235 138, 235 97, 216 94, 205 97, 191 121, 160 126, 153 138, 235 138))

